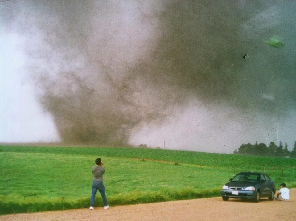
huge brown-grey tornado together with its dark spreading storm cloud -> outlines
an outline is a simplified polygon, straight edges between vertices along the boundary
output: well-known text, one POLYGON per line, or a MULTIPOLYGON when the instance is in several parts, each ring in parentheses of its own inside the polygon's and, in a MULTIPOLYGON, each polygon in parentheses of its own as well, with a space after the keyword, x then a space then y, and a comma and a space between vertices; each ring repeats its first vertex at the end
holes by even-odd
POLYGON ((7 30, 27 38, 40 102, 63 141, 119 145, 188 97, 249 115, 294 108, 295 50, 286 31, 295 30, 292 5, 11 1, 1 13, 7 30), (286 47, 264 43, 282 33, 286 47))

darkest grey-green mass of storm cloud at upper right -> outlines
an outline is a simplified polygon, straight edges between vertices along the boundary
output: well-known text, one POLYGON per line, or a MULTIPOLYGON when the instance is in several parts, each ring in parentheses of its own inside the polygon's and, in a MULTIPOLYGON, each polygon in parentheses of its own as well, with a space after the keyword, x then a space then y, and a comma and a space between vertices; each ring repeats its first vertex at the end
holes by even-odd
POLYGON ((291 93, 295 63, 286 65, 293 56, 291 51, 263 43, 270 35, 283 33, 283 26, 290 19, 283 14, 287 6, 272 4, 167 4, 159 16, 162 38, 150 62, 150 67, 161 73, 155 82, 162 84, 159 78, 168 78, 177 88, 176 93, 185 88, 206 102, 220 100, 238 108, 284 113, 295 104, 296 97, 291 93), (254 18, 261 20, 253 21, 254 18), (242 59, 245 53, 250 56, 242 59), (275 102, 264 99, 264 94, 275 97, 275 102))

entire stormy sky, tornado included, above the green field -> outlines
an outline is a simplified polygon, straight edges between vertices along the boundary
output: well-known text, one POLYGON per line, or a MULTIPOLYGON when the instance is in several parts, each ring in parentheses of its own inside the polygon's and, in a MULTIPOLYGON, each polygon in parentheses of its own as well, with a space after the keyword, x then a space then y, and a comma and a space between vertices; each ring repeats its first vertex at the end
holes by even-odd
POLYGON ((0 2, 0 142, 291 150, 295 3, 215 2, 0 2))

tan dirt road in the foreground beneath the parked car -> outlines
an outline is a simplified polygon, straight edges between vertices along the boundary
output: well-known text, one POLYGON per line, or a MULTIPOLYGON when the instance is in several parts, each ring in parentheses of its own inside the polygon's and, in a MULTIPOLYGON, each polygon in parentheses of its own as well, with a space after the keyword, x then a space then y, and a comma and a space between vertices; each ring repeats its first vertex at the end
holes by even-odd
POLYGON ((90 211, 75 209, 39 213, 9 214, 0 220, 296 220, 296 188, 290 189, 289 202, 250 200, 221 197, 148 203, 127 206, 102 207, 90 211))

